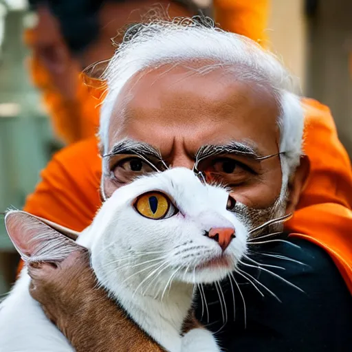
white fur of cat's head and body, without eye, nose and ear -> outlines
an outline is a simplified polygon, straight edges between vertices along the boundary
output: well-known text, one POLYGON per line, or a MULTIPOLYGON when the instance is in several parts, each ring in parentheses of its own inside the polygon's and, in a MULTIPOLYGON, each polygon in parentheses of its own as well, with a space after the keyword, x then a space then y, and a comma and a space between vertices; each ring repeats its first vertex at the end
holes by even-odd
MULTIPOLYGON (((100 285, 167 351, 219 351, 206 329, 183 337, 180 332, 192 305, 194 283, 225 278, 245 253, 248 230, 226 210, 227 201, 225 189, 201 184, 185 168, 144 176, 116 190, 77 240, 91 250, 100 285), (151 190, 168 195, 179 212, 162 220, 138 214, 133 201, 151 190), (219 244, 204 231, 223 227, 236 230, 224 252, 230 265, 199 268, 222 255, 219 244)), ((24 269, 0 306, 0 351, 73 351, 30 297, 29 283, 24 269)))

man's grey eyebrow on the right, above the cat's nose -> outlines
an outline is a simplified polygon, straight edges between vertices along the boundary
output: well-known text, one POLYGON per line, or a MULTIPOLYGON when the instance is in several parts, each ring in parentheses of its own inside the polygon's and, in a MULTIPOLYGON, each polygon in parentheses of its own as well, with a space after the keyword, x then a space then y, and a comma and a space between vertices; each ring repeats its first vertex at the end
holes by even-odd
POLYGON ((251 159, 261 159, 263 155, 259 153, 258 149, 243 142, 230 142, 228 144, 206 144, 198 149, 195 159, 196 163, 201 159, 211 157, 219 154, 237 154, 251 159))

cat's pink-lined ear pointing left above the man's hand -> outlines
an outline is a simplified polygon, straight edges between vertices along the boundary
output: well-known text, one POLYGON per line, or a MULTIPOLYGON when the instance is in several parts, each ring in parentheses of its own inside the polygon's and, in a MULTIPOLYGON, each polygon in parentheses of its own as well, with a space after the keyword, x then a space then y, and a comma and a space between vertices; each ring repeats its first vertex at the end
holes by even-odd
POLYGON ((26 263, 63 261, 72 252, 83 249, 74 241, 77 232, 44 221, 20 210, 5 214, 8 235, 26 263))

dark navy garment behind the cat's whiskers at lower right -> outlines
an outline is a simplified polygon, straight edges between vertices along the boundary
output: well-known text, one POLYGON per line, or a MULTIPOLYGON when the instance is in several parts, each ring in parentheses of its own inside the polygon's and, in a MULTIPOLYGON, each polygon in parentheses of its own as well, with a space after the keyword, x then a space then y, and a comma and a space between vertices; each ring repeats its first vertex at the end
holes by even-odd
MULTIPOLYGON (((265 285, 281 302, 253 278, 251 280, 264 297, 243 277, 234 274, 245 300, 246 319, 239 289, 232 283, 234 316, 232 289, 228 280, 221 284, 228 311, 225 326, 219 296, 214 287, 205 287, 210 324, 207 324, 206 309, 202 309, 199 293, 197 317, 208 329, 218 331, 216 336, 224 351, 351 352, 352 297, 336 265, 322 248, 313 243, 287 238, 285 235, 279 239, 289 243, 278 241, 251 245, 250 258, 300 287, 304 293, 264 270, 241 265, 241 270, 265 285), (263 254, 285 256, 304 265, 263 254)), ((248 260, 245 263, 257 266, 248 260)))

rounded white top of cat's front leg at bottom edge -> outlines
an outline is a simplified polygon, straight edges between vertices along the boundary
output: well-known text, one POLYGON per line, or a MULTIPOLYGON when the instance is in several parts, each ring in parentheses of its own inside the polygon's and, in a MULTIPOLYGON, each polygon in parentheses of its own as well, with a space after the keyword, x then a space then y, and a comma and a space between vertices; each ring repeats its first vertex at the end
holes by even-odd
POLYGON ((221 349, 210 331, 197 328, 184 335, 181 352, 221 352, 221 349))

